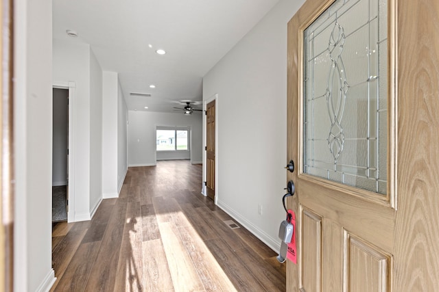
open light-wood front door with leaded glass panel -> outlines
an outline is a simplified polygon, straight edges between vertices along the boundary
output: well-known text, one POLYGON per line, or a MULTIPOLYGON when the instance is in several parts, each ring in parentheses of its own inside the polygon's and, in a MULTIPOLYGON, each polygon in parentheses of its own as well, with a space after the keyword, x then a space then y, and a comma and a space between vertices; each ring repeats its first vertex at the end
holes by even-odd
POLYGON ((307 0, 289 21, 287 291, 439 291, 438 15, 307 0))

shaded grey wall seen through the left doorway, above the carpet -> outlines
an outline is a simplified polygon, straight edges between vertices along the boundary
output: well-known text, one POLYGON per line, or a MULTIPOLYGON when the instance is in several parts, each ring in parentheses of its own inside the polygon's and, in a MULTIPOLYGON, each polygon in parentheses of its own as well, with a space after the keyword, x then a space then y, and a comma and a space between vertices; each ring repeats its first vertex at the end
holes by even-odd
POLYGON ((52 185, 67 185, 69 90, 54 88, 52 185))

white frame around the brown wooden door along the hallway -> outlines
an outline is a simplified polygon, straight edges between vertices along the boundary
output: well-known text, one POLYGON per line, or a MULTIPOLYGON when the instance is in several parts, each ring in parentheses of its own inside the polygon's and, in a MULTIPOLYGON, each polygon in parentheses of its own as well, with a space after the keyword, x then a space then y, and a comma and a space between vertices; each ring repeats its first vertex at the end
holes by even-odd
POLYGON ((211 103, 211 101, 215 101, 215 204, 218 202, 218 94, 215 93, 210 98, 207 98, 203 101, 203 181, 201 187, 201 194, 203 196, 207 196, 206 191, 206 174, 207 174, 207 165, 206 165, 206 143, 207 143, 207 118, 206 118, 206 110, 207 104, 211 103))

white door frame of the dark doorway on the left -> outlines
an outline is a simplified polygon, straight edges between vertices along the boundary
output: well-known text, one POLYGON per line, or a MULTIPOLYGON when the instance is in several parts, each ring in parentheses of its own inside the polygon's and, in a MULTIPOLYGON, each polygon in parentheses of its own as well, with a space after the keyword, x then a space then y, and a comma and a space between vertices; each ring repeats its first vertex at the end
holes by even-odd
MULTIPOLYGON (((55 81, 52 88, 69 90, 69 176, 67 177, 67 194, 69 194, 69 208, 67 210, 67 222, 75 222, 75 88, 76 84, 72 81, 55 81)), ((53 111, 53 109, 52 109, 53 111)))

